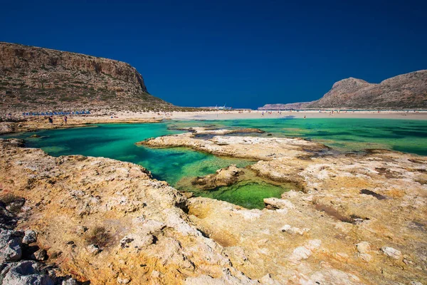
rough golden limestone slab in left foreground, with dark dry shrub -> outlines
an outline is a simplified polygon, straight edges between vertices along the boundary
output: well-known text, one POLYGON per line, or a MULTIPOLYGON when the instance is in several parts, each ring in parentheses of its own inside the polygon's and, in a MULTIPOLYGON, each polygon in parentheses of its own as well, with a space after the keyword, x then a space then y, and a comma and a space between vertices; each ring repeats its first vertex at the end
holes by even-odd
POLYGON ((0 194, 26 197, 19 227, 35 230, 49 261, 80 281, 258 283, 194 227, 186 198, 144 167, 103 157, 51 157, 0 140, 0 168, 0 194))

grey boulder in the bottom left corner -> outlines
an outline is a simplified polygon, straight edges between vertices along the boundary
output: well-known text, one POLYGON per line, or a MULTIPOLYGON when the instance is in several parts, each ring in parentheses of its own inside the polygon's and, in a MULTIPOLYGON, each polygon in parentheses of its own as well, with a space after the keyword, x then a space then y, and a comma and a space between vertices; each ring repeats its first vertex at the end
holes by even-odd
POLYGON ((19 261, 6 265, 0 273, 0 284, 54 285, 51 277, 43 274, 35 261, 19 261))

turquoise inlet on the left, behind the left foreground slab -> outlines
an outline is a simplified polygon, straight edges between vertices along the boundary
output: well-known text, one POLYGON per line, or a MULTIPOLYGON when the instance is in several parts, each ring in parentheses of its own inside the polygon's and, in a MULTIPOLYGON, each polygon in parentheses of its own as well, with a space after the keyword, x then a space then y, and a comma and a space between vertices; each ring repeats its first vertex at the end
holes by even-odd
POLYGON ((42 130, 10 137, 24 138, 27 147, 39 147, 53 156, 78 154, 137 163, 150 170, 155 178, 166 180, 171 185, 176 185, 184 176, 208 175, 233 163, 238 167, 253 163, 184 148, 152 149, 135 145, 135 142, 147 138, 182 133, 167 128, 166 123, 103 124, 88 128, 42 130), (33 134, 41 138, 29 138, 33 134))

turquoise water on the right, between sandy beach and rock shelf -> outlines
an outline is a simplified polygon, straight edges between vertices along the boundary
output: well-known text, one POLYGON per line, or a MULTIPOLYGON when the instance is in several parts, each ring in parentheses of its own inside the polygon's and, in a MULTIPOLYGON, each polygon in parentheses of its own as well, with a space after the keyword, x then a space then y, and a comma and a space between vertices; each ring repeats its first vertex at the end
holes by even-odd
MULTIPOLYGON (((208 125, 218 128, 260 128, 278 137, 307 138, 337 150, 384 148, 427 155, 427 120, 275 118, 212 120, 171 123, 176 126, 208 125)), ((258 135, 258 134, 254 134, 258 135)))

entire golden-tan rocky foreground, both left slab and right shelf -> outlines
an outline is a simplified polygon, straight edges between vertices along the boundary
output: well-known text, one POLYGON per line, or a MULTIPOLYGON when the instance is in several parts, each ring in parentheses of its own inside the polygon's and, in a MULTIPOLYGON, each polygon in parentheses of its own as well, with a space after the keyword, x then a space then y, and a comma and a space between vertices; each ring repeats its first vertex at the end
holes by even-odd
POLYGON ((132 163, 1 140, 1 195, 25 199, 17 230, 36 232, 43 262, 91 284, 426 284, 426 157, 191 132, 141 143, 259 160, 251 171, 295 190, 249 210, 187 199, 132 163))

